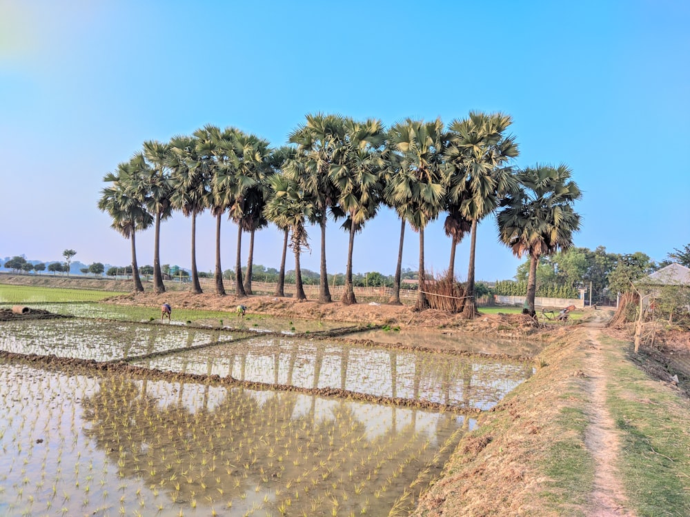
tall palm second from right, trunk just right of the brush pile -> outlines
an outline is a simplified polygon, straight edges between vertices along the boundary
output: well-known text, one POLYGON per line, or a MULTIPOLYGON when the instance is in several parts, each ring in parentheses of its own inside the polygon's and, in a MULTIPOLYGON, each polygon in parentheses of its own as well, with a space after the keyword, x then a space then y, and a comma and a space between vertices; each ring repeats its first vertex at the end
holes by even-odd
POLYGON ((508 165, 519 154, 515 137, 504 136, 513 123, 510 115, 470 112, 466 119, 455 119, 449 125, 451 145, 446 162, 451 169, 449 206, 471 221, 471 244, 467 272, 466 301, 462 314, 474 318, 475 249, 477 223, 493 213, 502 196, 515 185, 508 165))

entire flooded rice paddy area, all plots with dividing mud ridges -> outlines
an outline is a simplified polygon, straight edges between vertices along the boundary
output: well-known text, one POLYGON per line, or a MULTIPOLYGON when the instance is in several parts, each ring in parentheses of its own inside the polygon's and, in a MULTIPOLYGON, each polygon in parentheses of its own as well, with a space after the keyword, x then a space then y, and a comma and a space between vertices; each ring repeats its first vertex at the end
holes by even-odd
POLYGON ((0 350, 26 354, 0 359, 0 514, 406 515, 477 412, 532 374, 400 336, 377 346, 288 336, 300 322, 272 318, 230 330, 208 314, 205 328, 103 312, 0 323, 0 350))

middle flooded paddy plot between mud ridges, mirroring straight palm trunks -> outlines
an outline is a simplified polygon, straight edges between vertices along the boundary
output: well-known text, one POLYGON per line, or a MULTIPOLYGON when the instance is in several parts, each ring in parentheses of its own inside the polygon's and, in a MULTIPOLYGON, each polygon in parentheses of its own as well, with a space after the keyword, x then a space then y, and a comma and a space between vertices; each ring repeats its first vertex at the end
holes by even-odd
POLYGON ((497 363, 480 356, 449 358, 446 354, 283 336, 141 358, 132 364, 268 385, 334 388, 461 409, 491 409, 532 374, 530 364, 497 363))

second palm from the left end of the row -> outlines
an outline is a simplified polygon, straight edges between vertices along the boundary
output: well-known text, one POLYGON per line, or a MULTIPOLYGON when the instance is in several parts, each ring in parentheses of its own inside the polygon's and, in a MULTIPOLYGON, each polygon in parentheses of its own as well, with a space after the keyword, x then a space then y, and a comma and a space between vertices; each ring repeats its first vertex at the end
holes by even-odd
POLYGON ((150 140, 144 142, 143 156, 149 167, 148 176, 144 177, 144 183, 148 189, 146 192, 146 208, 155 216, 155 237, 153 247, 153 290, 156 293, 166 291, 161 273, 161 221, 166 221, 172 214, 170 195, 172 183, 170 183, 170 170, 168 169, 168 156, 170 144, 150 140))

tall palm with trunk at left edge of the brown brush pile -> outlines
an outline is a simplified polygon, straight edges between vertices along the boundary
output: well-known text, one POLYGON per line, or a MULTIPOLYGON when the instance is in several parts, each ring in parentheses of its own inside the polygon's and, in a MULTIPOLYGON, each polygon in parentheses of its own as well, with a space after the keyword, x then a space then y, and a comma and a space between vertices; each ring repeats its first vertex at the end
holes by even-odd
POLYGON ((388 176, 386 198, 398 214, 404 214, 420 234, 419 290, 416 310, 428 309, 424 294, 424 228, 434 221, 444 206, 448 172, 444 152, 449 134, 441 119, 431 122, 405 119, 388 132, 389 145, 400 155, 400 171, 388 176))

